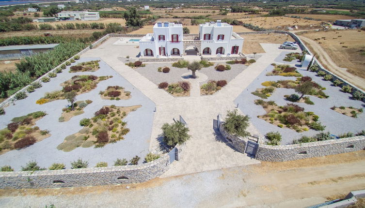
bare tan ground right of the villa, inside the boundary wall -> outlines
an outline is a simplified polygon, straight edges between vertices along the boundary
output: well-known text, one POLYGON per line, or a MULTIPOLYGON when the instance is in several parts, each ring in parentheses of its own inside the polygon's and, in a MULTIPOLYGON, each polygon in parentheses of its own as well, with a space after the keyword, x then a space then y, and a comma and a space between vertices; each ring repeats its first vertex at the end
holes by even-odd
POLYGON ((254 35, 241 35, 244 38, 242 53, 253 54, 265 53, 261 47, 262 44, 282 44, 286 41, 294 41, 289 35, 286 34, 254 34, 254 35))

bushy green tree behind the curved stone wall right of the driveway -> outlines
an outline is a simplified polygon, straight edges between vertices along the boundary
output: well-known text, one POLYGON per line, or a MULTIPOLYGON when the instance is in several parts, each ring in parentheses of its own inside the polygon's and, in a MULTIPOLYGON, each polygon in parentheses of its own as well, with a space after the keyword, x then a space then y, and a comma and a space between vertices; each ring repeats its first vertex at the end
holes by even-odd
POLYGON ((229 134, 245 137, 251 135, 247 132, 249 120, 250 117, 239 115, 235 109, 234 111, 227 111, 223 126, 229 134))

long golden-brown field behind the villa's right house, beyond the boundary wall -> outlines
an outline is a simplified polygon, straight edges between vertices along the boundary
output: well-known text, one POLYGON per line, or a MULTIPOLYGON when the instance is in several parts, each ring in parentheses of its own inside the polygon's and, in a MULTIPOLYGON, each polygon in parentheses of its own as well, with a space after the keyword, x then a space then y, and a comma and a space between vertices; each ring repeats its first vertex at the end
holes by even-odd
POLYGON ((320 26, 320 21, 296 19, 285 16, 273 16, 273 17, 253 17, 238 19, 244 23, 250 23, 262 28, 283 28, 287 26, 297 25, 300 29, 309 28, 310 25, 314 27, 320 26))

